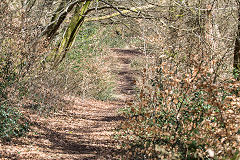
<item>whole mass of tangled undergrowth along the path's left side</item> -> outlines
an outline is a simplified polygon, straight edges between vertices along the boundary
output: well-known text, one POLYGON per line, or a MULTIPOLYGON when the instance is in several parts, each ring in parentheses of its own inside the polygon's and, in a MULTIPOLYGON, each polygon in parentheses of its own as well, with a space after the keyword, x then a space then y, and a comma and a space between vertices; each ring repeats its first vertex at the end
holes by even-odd
POLYGON ((107 34, 111 27, 84 24, 73 49, 53 68, 56 46, 48 39, 39 39, 42 27, 38 26, 42 24, 31 14, 34 11, 25 14, 8 2, 1 3, 0 33, 4 36, 0 36, 0 139, 10 140, 29 130, 24 112, 49 116, 70 103, 68 95, 110 100, 114 92, 104 48, 121 46, 124 41, 107 34))

